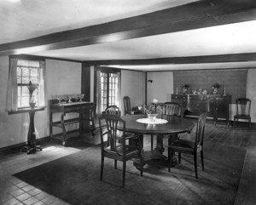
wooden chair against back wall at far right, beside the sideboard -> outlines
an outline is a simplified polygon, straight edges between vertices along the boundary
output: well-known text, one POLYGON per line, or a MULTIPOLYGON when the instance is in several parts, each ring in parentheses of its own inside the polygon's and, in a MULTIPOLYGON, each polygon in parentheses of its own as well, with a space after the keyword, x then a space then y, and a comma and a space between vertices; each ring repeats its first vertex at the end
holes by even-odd
POLYGON ((240 98, 236 100, 236 115, 234 116, 234 127, 236 127, 236 122, 238 124, 239 119, 247 120, 248 128, 251 128, 251 103, 252 101, 247 98, 240 98))

